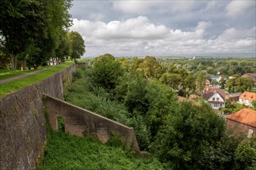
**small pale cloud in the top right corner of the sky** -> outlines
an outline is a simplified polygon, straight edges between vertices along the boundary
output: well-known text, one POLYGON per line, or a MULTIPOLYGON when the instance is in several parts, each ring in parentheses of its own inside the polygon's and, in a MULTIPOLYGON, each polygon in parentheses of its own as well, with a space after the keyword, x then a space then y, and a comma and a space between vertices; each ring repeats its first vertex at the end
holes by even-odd
POLYGON ((252 0, 232 1, 226 7, 227 15, 232 18, 243 15, 249 8, 255 8, 255 3, 252 0))

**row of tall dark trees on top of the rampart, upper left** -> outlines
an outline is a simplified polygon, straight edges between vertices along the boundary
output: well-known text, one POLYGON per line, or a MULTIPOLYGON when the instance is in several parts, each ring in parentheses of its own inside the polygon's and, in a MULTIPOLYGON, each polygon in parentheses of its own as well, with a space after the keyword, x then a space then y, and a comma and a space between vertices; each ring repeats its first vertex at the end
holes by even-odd
POLYGON ((52 57, 79 58, 85 42, 71 26, 71 0, 21 0, 0 2, 1 50, 9 57, 12 70, 46 63, 52 57))

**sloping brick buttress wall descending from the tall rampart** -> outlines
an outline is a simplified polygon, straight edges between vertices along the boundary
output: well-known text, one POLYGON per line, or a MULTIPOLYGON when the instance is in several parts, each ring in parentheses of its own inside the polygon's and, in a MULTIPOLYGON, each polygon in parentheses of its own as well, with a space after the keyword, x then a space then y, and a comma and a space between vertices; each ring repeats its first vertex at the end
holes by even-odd
POLYGON ((112 132, 118 135, 127 147, 140 151, 133 128, 47 95, 43 97, 43 103, 49 112, 49 121, 54 130, 57 130, 57 117, 63 117, 65 132, 71 135, 91 134, 106 143, 112 132))

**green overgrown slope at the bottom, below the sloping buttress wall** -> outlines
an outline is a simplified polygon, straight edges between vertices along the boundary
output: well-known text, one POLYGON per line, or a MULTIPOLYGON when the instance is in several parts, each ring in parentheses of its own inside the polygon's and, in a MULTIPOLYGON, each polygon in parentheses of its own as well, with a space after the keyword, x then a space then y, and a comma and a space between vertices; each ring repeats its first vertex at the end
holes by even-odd
POLYGON ((76 137, 56 131, 48 134, 47 144, 40 170, 164 169, 154 158, 140 158, 131 151, 103 145, 88 136, 76 137))

